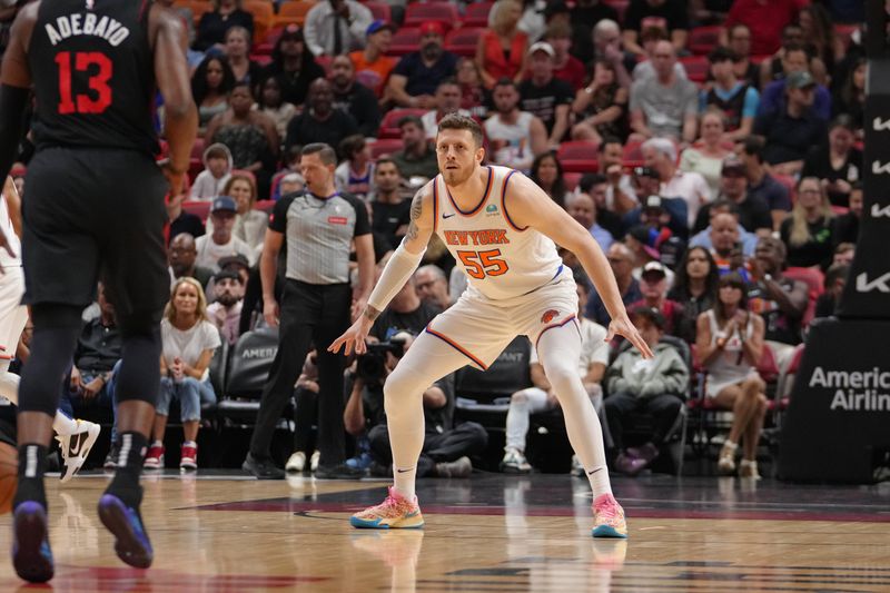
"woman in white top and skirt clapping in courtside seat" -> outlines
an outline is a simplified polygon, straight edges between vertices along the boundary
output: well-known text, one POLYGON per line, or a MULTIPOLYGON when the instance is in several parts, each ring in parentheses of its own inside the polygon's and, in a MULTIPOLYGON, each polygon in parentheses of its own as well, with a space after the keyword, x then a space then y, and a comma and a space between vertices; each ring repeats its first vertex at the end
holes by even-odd
POLYGON ((695 348, 708 369, 706 396, 721 409, 732 411, 732 428, 720 452, 721 474, 735 472, 735 449, 744 437, 742 477, 758 478, 756 448, 767 414, 765 385, 756 370, 763 354, 763 318, 745 310, 745 286, 736 273, 718 284, 713 309, 699 315, 695 348))

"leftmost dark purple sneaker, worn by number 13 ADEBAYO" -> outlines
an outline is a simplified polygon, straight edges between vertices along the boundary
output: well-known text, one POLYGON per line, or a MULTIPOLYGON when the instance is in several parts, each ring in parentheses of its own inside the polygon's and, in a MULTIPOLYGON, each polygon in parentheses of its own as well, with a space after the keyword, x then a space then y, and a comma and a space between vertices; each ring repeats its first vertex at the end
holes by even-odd
POLYGON ((29 583, 46 583, 56 571, 47 540, 47 511, 40 503, 27 501, 16 507, 13 516, 16 574, 29 583))

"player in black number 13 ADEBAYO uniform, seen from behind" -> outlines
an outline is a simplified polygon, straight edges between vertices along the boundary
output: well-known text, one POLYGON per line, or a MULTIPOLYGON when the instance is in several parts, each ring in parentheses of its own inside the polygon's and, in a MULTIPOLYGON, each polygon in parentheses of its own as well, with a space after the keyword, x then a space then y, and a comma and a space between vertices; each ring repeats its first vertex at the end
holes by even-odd
POLYGON ((0 179, 14 158, 33 86, 33 139, 23 205, 24 302, 34 325, 19 389, 19 483, 12 560, 31 582, 52 577, 43 462, 59 380, 80 312, 102 277, 123 338, 117 472, 99 501, 118 556, 148 567, 139 475, 159 392, 161 309, 168 297, 164 197, 181 188, 197 128, 180 20, 150 0, 42 0, 21 9, 0 77, 0 179), (164 95, 164 168, 151 113, 164 95), (166 180, 165 180, 166 176, 166 180))

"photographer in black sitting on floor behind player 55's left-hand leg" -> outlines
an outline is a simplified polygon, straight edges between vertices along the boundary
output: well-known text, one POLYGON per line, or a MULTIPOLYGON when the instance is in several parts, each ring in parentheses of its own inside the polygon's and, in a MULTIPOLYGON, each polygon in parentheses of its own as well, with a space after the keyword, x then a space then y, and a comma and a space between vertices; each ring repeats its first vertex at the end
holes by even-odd
MULTIPOLYGON (((414 336, 398 332, 387 342, 370 344, 356 364, 355 380, 344 412, 346 432, 359 437, 367 434, 370 454, 386 475, 392 473, 389 433, 384 412, 383 385, 411 347, 414 336)), ((485 449, 488 435, 481 425, 465 422, 453 426, 454 375, 448 375, 423 394, 426 436, 417 462, 418 477, 468 477, 473 473, 471 455, 485 449)))

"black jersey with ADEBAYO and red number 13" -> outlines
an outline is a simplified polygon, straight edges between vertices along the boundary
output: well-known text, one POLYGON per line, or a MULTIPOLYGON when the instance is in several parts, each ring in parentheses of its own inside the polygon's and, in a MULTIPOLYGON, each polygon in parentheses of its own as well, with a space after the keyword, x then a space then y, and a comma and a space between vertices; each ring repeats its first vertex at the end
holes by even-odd
POLYGON ((158 150, 149 0, 43 0, 28 50, 38 150, 158 150))

